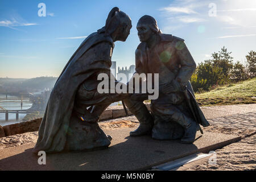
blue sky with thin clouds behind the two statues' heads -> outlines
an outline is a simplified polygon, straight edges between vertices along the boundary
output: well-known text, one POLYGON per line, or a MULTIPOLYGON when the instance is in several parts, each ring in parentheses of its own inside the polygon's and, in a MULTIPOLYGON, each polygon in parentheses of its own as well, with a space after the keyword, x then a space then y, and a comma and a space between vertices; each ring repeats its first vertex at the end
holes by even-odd
POLYGON ((114 6, 133 23, 126 42, 115 43, 112 61, 117 67, 135 63, 136 24, 146 14, 154 16, 163 33, 185 39, 197 64, 223 46, 242 63, 250 50, 256 51, 255 0, 1 0, 0 77, 59 76, 84 38, 104 26, 114 6), (38 16, 39 3, 46 4, 45 17, 38 16))

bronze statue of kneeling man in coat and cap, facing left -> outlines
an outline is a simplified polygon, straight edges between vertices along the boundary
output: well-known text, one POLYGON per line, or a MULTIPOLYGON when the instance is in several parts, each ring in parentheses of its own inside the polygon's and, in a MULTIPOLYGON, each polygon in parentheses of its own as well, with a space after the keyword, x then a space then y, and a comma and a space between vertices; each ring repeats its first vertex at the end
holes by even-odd
POLYGON ((141 43, 135 51, 135 70, 139 74, 159 74, 159 97, 151 100, 151 113, 143 104, 145 94, 125 100, 140 123, 130 136, 151 134, 154 139, 181 139, 183 143, 193 143, 200 125, 209 126, 189 82, 196 63, 184 40, 162 34, 152 16, 142 16, 137 30, 141 43))

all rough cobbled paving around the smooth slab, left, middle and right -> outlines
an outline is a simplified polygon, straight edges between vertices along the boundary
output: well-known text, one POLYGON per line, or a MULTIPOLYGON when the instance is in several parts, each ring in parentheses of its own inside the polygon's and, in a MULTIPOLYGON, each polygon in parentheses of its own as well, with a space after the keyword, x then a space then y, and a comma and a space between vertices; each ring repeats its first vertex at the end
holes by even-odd
MULTIPOLYGON (((203 128, 206 133, 221 133, 237 135, 242 137, 240 142, 229 144, 224 148, 216 150, 218 162, 211 166, 208 159, 202 159, 193 163, 185 164, 178 170, 238 170, 256 169, 256 104, 201 107, 210 126, 203 128)), ((124 127, 137 127, 137 118, 133 115, 100 122, 102 129, 118 129, 124 127)), ((19 134, 0 139, 1 144, 5 142, 6 147, 20 146, 35 142, 37 132, 19 134), (9 145, 10 144, 10 145, 9 145)))

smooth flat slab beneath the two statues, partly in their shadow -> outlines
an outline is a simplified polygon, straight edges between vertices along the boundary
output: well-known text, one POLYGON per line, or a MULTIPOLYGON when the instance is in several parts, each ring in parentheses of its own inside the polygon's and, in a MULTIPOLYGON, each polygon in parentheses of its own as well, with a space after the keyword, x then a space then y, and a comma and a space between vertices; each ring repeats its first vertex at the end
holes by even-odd
POLYGON ((32 154, 35 143, 0 150, 1 170, 104 170, 134 171, 182 158, 197 152, 209 152, 240 140, 236 135, 197 133, 193 144, 179 140, 154 140, 150 136, 129 137, 133 128, 104 130, 113 140, 108 149, 88 152, 60 152, 46 155, 46 165, 32 154))

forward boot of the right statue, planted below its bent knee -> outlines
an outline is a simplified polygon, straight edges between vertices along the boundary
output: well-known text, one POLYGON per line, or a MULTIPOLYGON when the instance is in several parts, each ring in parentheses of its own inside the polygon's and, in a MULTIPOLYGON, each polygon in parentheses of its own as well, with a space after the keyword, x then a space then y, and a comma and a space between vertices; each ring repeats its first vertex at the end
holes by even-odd
POLYGON ((142 135, 150 135, 152 132, 154 119, 150 112, 148 111, 145 105, 141 106, 139 109, 131 110, 131 113, 135 115, 135 117, 139 121, 138 129, 131 131, 131 137, 139 137, 142 135))

